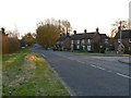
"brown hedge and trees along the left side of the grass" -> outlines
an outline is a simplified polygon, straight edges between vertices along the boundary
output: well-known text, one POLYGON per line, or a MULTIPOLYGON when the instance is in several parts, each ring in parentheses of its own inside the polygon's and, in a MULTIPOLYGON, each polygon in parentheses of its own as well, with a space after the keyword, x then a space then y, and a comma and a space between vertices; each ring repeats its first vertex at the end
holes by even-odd
POLYGON ((16 35, 5 34, 4 28, 0 30, 0 54, 13 53, 21 50, 22 47, 29 47, 34 44, 35 38, 33 38, 32 34, 26 34, 19 39, 16 35))

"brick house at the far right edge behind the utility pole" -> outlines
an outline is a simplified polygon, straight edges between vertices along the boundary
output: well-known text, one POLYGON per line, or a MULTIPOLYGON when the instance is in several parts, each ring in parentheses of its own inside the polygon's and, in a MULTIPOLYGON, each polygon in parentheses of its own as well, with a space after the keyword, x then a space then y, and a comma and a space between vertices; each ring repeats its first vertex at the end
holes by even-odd
MULTIPOLYGON (((131 29, 121 30, 121 42, 124 46, 124 53, 131 54, 131 29)), ((120 32, 115 36, 115 50, 119 50, 120 45, 120 32)))

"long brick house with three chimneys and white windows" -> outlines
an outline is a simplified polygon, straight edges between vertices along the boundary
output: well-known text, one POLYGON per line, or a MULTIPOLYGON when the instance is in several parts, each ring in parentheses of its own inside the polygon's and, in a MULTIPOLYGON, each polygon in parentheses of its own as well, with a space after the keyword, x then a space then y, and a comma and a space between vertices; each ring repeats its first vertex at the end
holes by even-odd
POLYGON ((74 35, 71 36, 71 50, 99 52, 107 44, 108 37, 106 34, 99 34, 98 28, 92 33, 87 33, 85 29, 81 34, 76 34, 76 30, 74 30, 74 35))

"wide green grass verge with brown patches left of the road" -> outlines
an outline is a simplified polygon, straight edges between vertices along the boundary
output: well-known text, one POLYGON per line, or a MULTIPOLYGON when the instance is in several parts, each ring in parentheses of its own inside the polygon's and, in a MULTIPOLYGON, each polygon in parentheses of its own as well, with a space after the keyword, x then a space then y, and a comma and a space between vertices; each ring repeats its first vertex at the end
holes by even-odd
POLYGON ((29 49, 2 56, 2 96, 70 96, 49 64, 29 49))

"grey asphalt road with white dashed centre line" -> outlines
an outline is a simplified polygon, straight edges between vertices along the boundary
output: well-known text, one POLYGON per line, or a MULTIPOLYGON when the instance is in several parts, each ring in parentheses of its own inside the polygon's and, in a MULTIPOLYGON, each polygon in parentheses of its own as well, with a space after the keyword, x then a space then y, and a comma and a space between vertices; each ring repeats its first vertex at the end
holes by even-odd
POLYGON ((129 65, 122 57, 88 57, 71 52, 33 48, 58 73, 75 96, 129 96, 129 65))

